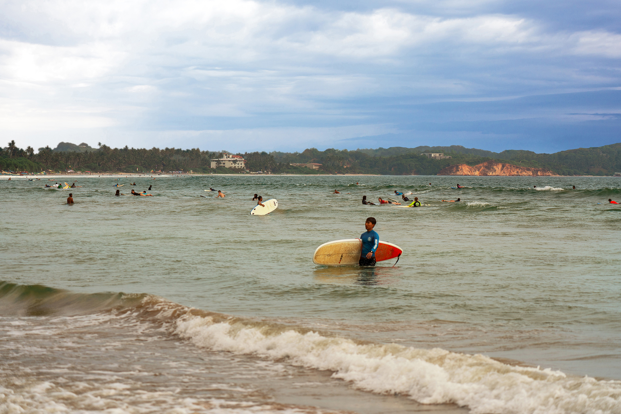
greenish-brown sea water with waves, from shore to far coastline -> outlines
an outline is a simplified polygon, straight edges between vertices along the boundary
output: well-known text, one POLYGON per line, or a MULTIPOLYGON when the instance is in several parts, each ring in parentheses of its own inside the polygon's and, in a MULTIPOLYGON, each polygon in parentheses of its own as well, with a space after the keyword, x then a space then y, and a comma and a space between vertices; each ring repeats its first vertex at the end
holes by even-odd
POLYGON ((0 182, 3 414, 621 413, 619 178, 117 178, 0 182))

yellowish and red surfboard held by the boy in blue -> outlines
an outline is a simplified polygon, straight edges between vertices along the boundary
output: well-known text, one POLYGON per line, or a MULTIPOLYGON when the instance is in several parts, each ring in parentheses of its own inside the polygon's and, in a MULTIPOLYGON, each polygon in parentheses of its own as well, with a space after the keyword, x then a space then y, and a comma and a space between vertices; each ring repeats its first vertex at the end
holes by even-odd
MULTIPOLYGON (((349 238, 345 240, 329 241, 315 250, 312 261, 315 264, 341 266, 343 264, 358 264, 362 252, 362 240, 349 238)), ((403 250, 388 241, 379 241, 375 251, 375 261, 384 261, 401 256, 403 250)))

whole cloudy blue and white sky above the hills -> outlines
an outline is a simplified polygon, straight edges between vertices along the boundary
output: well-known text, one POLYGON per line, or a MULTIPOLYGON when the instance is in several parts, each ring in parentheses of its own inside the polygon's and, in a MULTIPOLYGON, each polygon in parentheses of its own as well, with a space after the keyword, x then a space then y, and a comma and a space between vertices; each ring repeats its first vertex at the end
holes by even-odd
POLYGON ((621 142, 621 7, 4 0, 0 136, 233 152, 608 145, 621 142))

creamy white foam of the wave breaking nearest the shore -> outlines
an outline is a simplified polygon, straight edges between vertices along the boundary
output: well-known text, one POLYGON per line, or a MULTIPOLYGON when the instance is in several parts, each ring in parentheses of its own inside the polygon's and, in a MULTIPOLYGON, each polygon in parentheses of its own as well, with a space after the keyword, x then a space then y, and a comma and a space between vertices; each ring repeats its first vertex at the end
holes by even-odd
POLYGON ((456 403, 474 414, 621 413, 621 381, 509 366, 482 355, 359 344, 269 325, 215 323, 211 317, 189 313, 176 321, 176 333, 197 346, 286 359, 297 366, 333 371, 333 377, 359 389, 406 394, 422 403, 456 403))

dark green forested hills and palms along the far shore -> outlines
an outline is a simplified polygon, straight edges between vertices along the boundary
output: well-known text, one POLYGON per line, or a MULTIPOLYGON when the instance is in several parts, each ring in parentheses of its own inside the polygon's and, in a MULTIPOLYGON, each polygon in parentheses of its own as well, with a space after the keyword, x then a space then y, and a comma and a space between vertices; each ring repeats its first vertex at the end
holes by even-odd
MULTIPOLYGON (((93 172, 150 172, 193 171, 194 173, 239 173, 238 169, 218 167, 211 169, 211 159, 221 158, 223 152, 201 151, 199 148, 111 148, 98 143, 91 148, 86 143, 75 145, 61 142, 56 148, 39 148, 35 153, 30 147, 19 148, 10 142, 0 155, 0 168, 5 171, 43 170, 93 171, 93 172)), ((537 154, 533 151, 505 150, 501 153, 451 146, 419 146, 417 148, 391 147, 356 151, 329 148, 319 151, 307 148, 298 153, 252 152, 238 153, 247 160, 250 171, 293 174, 392 174, 435 175, 453 164, 474 166, 489 160, 517 166, 545 168, 559 175, 612 175, 621 172, 621 143, 592 148, 577 148, 553 154, 537 154), (430 160, 421 153, 444 153, 452 158, 430 160), (292 166, 303 163, 322 164, 319 171, 292 166)))

